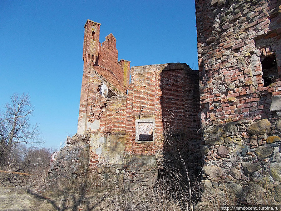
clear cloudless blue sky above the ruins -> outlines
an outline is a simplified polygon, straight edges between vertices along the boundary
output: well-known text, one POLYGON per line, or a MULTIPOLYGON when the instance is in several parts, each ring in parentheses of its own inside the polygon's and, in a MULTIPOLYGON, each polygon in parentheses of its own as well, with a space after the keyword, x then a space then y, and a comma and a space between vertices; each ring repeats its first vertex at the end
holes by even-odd
POLYGON ((0 109, 29 93, 43 146, 77 130, 87 19, 112 33, 132 66, 187 63, 198 69, 194 0, 0 1, 0 109))

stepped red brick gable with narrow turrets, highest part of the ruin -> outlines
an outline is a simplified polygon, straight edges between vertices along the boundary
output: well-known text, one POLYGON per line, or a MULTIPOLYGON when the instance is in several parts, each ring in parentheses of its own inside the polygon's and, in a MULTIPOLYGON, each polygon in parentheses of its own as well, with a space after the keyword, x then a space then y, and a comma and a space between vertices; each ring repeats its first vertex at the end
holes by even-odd
MULTIPOLYGON (((118 96, 126 96, 130 79, 130 61, 118 59, 116 39, 112 34, 106 40, 99 42, 100 23, 87 20, 85 24, 83 60, 84 70, 81 85, 81 98, 78 117, 78 133, 84 133, 88 128, 86 123, 92 123, 101 118, 102 107, 107 98, 100 95, 101 84, 106 84, 111 92, 118 96), (92 37, 92 33, 95 36, 92 37)), ((105 127, 106 122, 101 122, 105 127)), ((105 130, 105 129, 103 129, 105 130)), ((125 130, 125 128, 123 128, 125 130)))

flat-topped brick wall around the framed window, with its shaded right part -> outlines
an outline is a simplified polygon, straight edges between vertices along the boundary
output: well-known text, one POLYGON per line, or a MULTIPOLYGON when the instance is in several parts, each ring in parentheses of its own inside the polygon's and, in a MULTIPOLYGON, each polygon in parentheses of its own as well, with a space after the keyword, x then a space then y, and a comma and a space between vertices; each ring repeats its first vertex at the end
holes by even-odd
MULTIPOLYGON (((131 68, 126 115, 126 132, 131 133, 131 137, 127 143, 127 151, 136 154, 156 154, 161 151, 162 117, 170 118, 170 113, 174 129, 180 128, 193 134, 194 131, 197 132, 200 121, 199 87, 196 79, 198 72, 181 63, 131 68), (154 143, 135 142, 136 118, 155 118, 154 143)), ((198 136, 191 138, 194 137, 198 136)))

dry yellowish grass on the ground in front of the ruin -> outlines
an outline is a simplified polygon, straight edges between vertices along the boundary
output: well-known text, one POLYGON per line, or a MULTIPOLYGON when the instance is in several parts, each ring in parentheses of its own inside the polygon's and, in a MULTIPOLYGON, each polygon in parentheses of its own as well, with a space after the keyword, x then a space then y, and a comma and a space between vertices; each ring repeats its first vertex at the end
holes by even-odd
POLYGON ((78 179, 41 180, 0 189, 0 210, 193 210, 180 175, 159 178, 147 190, 130 191, 101 185, 95 174, 78 179), (174 177, 174 178, 172 178, 174 177))

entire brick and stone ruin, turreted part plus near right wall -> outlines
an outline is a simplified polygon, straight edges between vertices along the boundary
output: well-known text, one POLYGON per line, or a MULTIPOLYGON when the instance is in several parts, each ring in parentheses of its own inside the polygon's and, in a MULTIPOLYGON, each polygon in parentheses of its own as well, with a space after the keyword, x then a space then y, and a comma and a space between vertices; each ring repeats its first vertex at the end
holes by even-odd
POLYGON ((195 0, 195 8, 199 71, 182 63, 130 71, 114 36, 100 43, 101 24, 86 22, 78 130, 69 140, 78 143, 62 150, 75 161, 61 153, 51 177, 75 178, 89 166, 145 188, 173 153, 165 134, 182 131, 189 149, 202 149, 203 201, 229 190, 245 203, 280 204, 281 3, 195 0))

